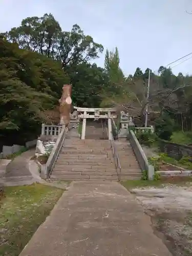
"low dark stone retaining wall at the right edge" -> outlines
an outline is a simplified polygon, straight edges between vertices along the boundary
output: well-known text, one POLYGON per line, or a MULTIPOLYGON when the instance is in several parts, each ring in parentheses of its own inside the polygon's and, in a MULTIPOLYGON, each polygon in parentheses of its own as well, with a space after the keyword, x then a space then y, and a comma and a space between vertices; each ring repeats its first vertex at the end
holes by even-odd
POLYGON ((180 160, 183 156, 192 157, 192 146, 177 144, 164 140, 160 141, 160 151, 177 160, 180 160))

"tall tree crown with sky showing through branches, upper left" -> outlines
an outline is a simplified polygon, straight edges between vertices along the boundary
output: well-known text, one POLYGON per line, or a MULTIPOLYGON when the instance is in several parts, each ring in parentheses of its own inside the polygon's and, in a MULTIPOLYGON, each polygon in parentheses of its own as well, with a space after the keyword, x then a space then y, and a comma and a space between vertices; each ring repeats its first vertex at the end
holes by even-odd
POLYGON ((53 15, 47 13, 23 19, 19 27, 12 28, 4 36, 10 42, 17 42, 22 49, 61 60, 63 68, 88 62, 103 51, 102 45, 85 35, 77 24, 71 31, 62 31, 53 15))

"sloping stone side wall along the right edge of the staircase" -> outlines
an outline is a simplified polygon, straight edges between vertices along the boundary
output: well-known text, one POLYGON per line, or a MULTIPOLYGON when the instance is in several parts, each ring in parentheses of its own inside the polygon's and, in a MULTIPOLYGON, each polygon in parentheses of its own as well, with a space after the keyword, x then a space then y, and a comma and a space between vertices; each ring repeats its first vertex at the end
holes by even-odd
POLYGON ((140 165, 142 172, 144 170, 146 170, 147 175, 148 175, 148 180, 153 180, 154 172, 155 172, 154 166, 148 162, 148 159, 147 159, 135 133, 132 130, 130 130, 129 139, 130 139, 131 146, 133 148, 133 151, 135 153, 135 156, 137 158, 137 161, 140 165))

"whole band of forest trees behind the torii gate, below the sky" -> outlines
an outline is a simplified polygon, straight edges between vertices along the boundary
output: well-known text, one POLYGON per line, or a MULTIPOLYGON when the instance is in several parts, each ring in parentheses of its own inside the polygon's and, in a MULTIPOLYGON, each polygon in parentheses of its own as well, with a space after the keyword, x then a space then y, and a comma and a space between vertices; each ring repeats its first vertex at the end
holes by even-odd
MULTIPOLYGON (((103 46, 78 25, 63 31, 51 14, 28 17, 1 34, 0 140, 22 143, 36 138, 41 122, 56 120, 66 83, 72 84, 74 105, 118 105, 142 125, 149 69, 137 68, 124 76, 117 48, 106 50, 104 68, 91 64, 102 52, 103 46)), ((176 76, 169 67, 152 72, 148 104, 153 119, 191 131, 191 103, 192 76, 176 76)))

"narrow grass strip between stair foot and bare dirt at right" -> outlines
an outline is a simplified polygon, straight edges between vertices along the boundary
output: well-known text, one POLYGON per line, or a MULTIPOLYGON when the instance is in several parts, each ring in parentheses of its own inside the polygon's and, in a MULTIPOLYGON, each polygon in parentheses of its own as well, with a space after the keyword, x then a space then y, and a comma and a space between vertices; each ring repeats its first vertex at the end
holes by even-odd
POLYGON ((164 177, 160 180, 127 180, 122 181, 123 185, 127 190, 135 187, 160 187, 162 185, 180 185, 188 186, 192 182, 192 177, 164 177))

